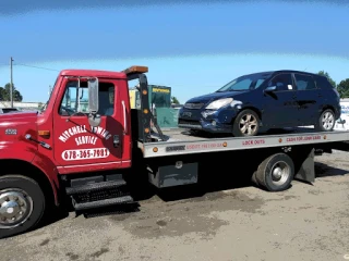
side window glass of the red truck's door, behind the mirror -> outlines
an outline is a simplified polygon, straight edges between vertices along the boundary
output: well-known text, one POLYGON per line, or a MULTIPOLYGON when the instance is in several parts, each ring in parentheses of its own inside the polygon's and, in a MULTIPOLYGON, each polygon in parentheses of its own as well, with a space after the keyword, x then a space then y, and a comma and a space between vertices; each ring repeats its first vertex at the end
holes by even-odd
MULTIPOLYGON (((81 82, 77 90, 77 80, 70 80, 67 84, 65 92, 60 104, 60 115, 71 115, 76 112, 88 113, 88 89, 87 83, 81 82), (77 101, 77 102, 76 102, 77 101)), ((99 115, 112 115, 115 111, 115 85, 112 83, 99 83, 99 115)), ((80 116, 81 113, 74 116, 80 116)))

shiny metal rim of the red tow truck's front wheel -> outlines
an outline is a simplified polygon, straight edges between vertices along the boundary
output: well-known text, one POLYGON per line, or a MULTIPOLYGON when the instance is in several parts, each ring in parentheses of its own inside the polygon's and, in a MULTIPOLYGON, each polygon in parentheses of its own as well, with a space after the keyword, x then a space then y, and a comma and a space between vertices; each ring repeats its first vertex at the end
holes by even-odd
POLYGON ((0 228, 13 228, 28 220, 33 199, 22 189, 0 190, 0 228))

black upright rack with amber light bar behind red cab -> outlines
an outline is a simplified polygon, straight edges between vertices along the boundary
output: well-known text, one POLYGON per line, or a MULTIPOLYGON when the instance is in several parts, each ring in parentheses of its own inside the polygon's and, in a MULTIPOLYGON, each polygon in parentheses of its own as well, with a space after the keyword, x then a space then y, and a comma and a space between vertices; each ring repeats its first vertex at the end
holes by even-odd
POLYGON ((147 66, 134 65, 122 71, 128 76, 129 80, 139 79, 140 87, 137 87, 141 96, 141 113, 139 114, 139 134, 142 135, 144 142, 152 141, 152 126, 153 121, 154 126, 161 140, 166 140, 159 125, 157 124, 151 109, 149 109, 149 98, 148 98, 148 82, 145 73, 148 72, 147 66))

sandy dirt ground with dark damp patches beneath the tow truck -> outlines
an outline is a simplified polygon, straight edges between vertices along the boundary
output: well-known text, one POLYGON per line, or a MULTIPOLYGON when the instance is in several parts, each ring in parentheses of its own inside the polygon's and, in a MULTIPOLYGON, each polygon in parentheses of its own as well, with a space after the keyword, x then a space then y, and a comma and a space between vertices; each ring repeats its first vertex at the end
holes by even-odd
POLYGON ((158 196, 141 211, 68 216, 0 240, 15 260, 349 260, 349 156, 316 158, 313 185, 284 192, 248 186, 180 200, 158 196))

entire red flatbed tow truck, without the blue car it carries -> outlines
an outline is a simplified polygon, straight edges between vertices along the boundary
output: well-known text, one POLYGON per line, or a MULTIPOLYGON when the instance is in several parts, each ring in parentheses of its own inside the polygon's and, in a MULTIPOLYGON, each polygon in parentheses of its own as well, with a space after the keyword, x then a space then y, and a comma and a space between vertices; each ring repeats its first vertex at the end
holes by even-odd
POLYGON ((314 156, 349 139, 349 132, 311 129, 219 138, 163 132, 147 71, 64 70, 43 111, 0 115, 0 238, 33 229, 67 201, 83 214, 136 203, 133 195, 148 184, 163 189, 222 173, 286 190, 293 178, 314 182, 314 156), (129 80, 140 82, 140 110, 130 109, 129 80))

